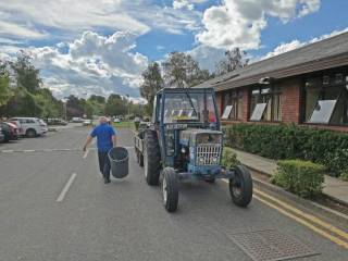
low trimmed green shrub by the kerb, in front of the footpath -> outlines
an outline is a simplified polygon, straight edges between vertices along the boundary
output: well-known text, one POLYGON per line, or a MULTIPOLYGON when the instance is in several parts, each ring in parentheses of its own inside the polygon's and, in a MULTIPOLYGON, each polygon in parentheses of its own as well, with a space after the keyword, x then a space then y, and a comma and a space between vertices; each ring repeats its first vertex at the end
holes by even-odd
POLYGON ((310 198, 321 194, 325 167, 310 161, 278 161, 277 172, 271 182, 300 197, 310 198))

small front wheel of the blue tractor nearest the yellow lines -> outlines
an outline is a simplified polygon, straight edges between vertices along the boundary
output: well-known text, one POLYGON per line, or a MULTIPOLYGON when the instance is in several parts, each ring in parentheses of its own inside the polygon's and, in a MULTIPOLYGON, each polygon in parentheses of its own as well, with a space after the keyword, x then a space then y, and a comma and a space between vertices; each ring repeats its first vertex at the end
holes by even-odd
POLYGON ((252 178, 250 172, 243 165, 235 167, 235 177, 229 179, 232 201, 238 207, 247 207, 252 199, 252 178))

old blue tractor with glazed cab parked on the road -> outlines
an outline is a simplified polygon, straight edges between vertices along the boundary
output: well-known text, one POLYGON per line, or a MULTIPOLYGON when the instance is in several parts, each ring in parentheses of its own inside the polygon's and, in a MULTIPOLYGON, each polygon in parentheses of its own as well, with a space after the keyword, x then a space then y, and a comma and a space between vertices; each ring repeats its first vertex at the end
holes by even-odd
POLYGON ((161 182, 163 204, 174 212, 178 183, 200 179, 229 181, 232 200, 247 207, 252 198, 252 179, 243 165, 221 165, 223 133, 212 88, 164 88, 156 95, 152 120, 141 123, 135 135, 135 153, 144 166, 148 185, 161 182), (160 178, 162 176, 162 178, 160 178))

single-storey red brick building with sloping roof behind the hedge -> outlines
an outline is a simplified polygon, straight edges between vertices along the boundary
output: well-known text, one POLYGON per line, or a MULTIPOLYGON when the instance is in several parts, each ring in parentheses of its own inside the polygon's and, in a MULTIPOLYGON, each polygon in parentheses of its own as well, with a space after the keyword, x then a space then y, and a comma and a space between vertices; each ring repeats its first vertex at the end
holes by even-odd
POLYGON ((295 123, 348 132, 348 33, 197 87, 214 87, 223 124, 295 123))

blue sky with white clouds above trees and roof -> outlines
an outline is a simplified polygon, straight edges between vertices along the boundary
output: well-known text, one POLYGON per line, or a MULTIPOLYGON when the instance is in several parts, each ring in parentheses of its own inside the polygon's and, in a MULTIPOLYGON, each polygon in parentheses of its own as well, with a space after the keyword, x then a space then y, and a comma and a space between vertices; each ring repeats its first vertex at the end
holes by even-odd
POLYGON ((0 0, 0 59, 33 57, 58 98, 129 95, 172 51, 213 72, 226 50, 266 59, 348 30, 347 0, 0 0))

